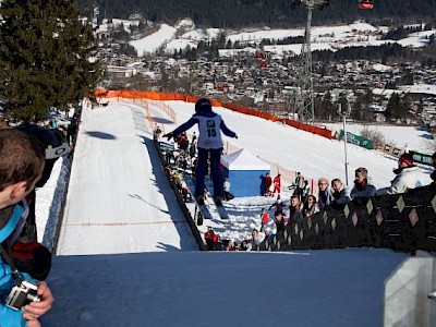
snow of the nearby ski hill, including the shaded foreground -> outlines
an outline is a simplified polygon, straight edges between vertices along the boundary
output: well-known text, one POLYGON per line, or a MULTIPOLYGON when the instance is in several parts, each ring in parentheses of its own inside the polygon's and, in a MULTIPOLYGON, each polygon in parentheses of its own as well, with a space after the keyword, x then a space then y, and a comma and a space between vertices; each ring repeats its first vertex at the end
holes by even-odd
MULTIPOLYGON (((168 105, 177 111, 175 122, 148 106, 166 132, 194 111, 193 104, 168 105)), ((343 143, 214 110, 239 135, 225 140, 228 149, 244 147, 307 178, 343 175, 343 143)), ((112 99, 93 110, 85 106, 47 280, 56 302, 43 326, 382 325, 384 282, 408 254, 364 247, 199 252, 153 147, 152 129, 145 104, 137 100, 112 99)), ((403 133, 417 143, 424 140, 410 129, 403 133)), ((350 146, 350 167, 366 166, 379 186, 393 178, 395 164, 350 146)), ((69 165, 58 160, 49 182, 37 191, 38 237, 48 246, 65 186, 60 177, 69 165)), ((245 239, 271 202, 235 198, 225 204, 230 219, 215 218, 199 229, 210 225, 223 238, 245 239)))

